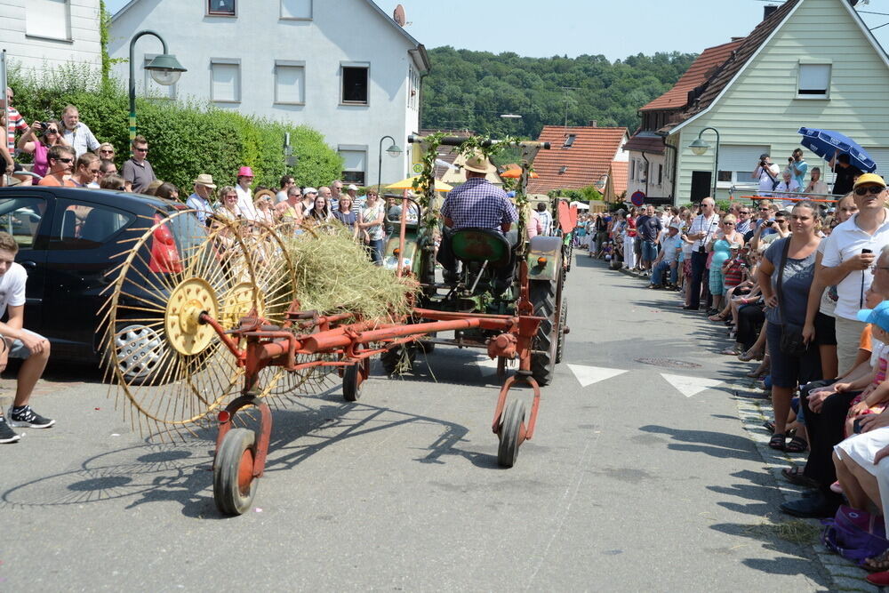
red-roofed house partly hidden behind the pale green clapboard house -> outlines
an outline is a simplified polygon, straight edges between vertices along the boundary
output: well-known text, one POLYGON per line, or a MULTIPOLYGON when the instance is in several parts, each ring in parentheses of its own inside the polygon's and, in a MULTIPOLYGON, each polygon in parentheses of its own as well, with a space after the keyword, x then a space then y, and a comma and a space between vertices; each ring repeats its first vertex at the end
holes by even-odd
POLYGON ((743 38, 733 39, 730 43, 707 48, 673 88, 639 109, 642 124, 624 147, 629 152, 628 196, 641 191, 647 203, 673 204, 677 155, 675 150, 670 150, 672 146, 665 145, 658 130, 691 107, 709 79, 742 41, 743 38))

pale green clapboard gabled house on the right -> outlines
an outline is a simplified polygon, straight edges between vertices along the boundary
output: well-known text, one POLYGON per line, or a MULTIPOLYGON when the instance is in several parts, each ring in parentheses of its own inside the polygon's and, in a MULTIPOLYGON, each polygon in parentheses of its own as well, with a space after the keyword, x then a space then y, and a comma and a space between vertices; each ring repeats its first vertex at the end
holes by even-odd
MULTIPOLYGON (((801 126, 845 133, 869 152, 877 172, 889 172, 889 57, 853 6, 787 0, 765 10, 690 104, 658 130, 676 154, 677 202, 710 195, 715 165, 720 198, 753 181, 762 153, 785 166, 800 147, 801 126), (693 154, 688 147, 699 136, 714 149, 693 154)), ((826 171, 821 157, 804 156, 826 171)))

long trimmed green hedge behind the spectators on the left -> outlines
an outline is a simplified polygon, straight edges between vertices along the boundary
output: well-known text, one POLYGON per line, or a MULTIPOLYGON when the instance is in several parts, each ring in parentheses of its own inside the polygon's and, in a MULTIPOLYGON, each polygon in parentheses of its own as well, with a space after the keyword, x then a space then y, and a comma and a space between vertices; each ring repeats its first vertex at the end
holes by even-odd
MULTIPOLYGON (((129 158, 129 100, 123 84, 103 84, 98 73, 83 67, 59 68, 36 80, 21 76, 13 66, 8 78, 15 92, 13 106, 28 124, 58 119, 66 105, 75 105, 96 138, 115 146, 118 168, 129 158)), ((210 173, 217 185, 234 185, 242 165, 252 167, 254 185, 271 188, 285 173, 301 186, 317 187, 339 179, 342 171, 342 157, 327 146, 324 136, 306 126, 163 99, 137 98, 136 113, 157 177, 176 184, 184 196, 191 193, 199 173, 210 173), (296 167, 285 164, 285 132, 291 134, 296 167)))

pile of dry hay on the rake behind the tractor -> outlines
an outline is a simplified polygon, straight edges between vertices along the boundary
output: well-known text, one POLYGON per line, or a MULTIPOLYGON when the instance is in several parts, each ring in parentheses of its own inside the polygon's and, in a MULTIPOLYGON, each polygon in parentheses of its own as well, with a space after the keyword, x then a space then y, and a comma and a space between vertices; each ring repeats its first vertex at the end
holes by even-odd
POLYGON ((312 229, 286 238, 285 244, 296 269, 295 296, 302 309, 380 320, 410 312, 410 295, 418 284, 374 266, 347 228, 332 224, 312 229))

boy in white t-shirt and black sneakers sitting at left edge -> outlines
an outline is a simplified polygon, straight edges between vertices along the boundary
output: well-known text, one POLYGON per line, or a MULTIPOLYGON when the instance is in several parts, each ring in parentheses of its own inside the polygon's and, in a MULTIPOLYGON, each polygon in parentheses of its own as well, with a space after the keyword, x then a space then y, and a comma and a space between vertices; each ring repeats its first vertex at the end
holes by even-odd
POLYGON ((0 411, 0 443, 14 443, 21 438, 11 426, 48 429, 54 420, 44 418, 28 405, 31 391, 44 373, 46 361, 50 357, 50 343, 41 335, 28 332, 25 323, 25 283, 28 274, 25 268, 15 263, 19 245, 9 233, 0 232, 0 317, 9 311, 6 323, 0 322, 0 372, 12 358, 23 358, 19 379, 15 389, 15 399, 9 411, 9 420, 0 411))

